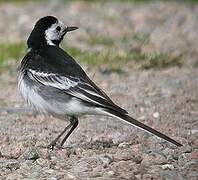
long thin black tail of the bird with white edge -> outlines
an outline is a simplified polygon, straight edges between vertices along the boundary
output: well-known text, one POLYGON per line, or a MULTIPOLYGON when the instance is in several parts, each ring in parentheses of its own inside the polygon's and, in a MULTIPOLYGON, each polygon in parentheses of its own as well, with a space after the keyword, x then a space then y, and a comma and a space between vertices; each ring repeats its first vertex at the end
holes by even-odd
POLYGON ((159 131, 157 131, 157 130, 137 121, 136 119, 133 119, 132 117, 128 116, 127 114, 121 114, 119 112, 112 111, 112 110, 108 111, 108 114, 110 114, 110 116, 117 117, 121 120, 124 120, 125 122, 128 122, 129 124, 137 126, 138 128, 143 129, 143 130, 145 130, 149 133, 152 133, 152 134, 154 134, 154 135, 156 135, 156 136, 158 136, 158 137, 160 137, 160 138, 162 138, 162 139, 164 139, 164 140, 166 140, 170 143, 173 143, 176 146, 182 146, 182 144, 175 141, 174 139, 172 139, 172 138, 166 136, 165 134, 162 134, 161 132, 159 132, 159 131))

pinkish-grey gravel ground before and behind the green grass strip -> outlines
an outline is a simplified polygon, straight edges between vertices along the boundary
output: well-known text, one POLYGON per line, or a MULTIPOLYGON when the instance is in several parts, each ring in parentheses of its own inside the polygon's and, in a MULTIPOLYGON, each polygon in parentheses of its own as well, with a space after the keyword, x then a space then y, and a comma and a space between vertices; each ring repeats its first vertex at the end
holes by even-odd
POLYGON ((71 35, 74 45, 82 33, 107 33, 116 39, 132 26, 131 31, 151 35, 145 51, 154 48, 173 55, 186 53, 188 62, 182 68, 128 68, 124 74, 89 72, 130 115, 184 146, 177 148, 113 118, 84 116, 64 149, 48 150, 45 146, 67 122, 28 109, 24 112, 15 70, 0 74, 0 179, 197 179, 198 71, 192 65, 198 57, 198 6, 105 3, 101 8, 75 2, 63 7, 55 1, 48 9, 45 6, 1 4, 1 41, 25 39, 38 17, 53 13, 82 27, 71 35), (108 25, 112 17, 116 21, 108 25), (159 26, 161 21, 164 23, 159 26), (102 31, 104 26, 107 31, 102 31))

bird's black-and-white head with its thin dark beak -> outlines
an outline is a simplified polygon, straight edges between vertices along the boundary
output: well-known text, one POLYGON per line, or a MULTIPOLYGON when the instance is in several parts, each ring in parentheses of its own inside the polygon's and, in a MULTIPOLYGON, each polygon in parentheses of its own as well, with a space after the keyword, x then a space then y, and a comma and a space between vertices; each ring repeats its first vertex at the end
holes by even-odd
POLYGON ((56 17, 43 17, 36 22, 27 40, 28 47, 42 48, 46 45, 59 46, 64 35, 76 29, 78 27, 66 26, 56 17))

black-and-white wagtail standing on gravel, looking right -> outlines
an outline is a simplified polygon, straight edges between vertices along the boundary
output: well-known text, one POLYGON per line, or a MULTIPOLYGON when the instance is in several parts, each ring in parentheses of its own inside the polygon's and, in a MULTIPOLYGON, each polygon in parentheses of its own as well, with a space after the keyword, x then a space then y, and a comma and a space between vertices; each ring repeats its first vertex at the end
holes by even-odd
POLYGON ((65 35, 77 29, 76 26, 66 26, 54 16, 40 18, 27 39, 28 50, 19 66, 18 88, 25 101, 41 114, 69 121, 47 147, 54 149, 64 135, 59 144, 62 148, 78 126, 78 119, 82 115, 117 118, 176 146, 182 146, 176 140, 130 117, 60 47, 65 35))

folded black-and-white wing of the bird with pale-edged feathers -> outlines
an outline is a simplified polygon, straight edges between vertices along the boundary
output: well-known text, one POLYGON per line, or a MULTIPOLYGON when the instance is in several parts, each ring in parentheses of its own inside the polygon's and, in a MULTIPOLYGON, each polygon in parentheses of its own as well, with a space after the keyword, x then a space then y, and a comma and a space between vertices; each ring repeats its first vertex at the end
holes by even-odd
POLYGON ((60 76, 54 73, 45 73, 29 69, 29 77, 48 87, 63 90, 65 93, 89 103, 96 107, 109 108, 126 114, 127 112, 109 100, 108 96, 100 90, 90 79, 85 81, 78 77, 60 76))

